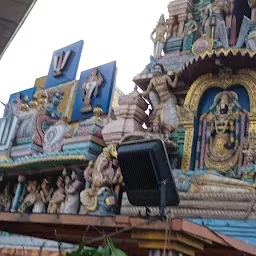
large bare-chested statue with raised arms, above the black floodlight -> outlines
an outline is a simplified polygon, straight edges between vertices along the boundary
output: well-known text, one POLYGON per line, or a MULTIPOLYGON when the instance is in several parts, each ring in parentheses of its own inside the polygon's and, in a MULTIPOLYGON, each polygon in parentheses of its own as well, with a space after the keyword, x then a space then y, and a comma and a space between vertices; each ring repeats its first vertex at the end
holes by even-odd
POLYGON ((154 77, 150 80, 147 90, 140 93, 142 96, 149 95, 151 91, 156 92, 157 98, 153 103, 155 114, 160 116, 160 125, 164 132, 171 132, 179 125, 179 119, 176 113, 177 99, 169 91, 169 88, 175 88, 178 82, 178 73, 175 73, 174 80, 165 74, 164 67, 156 64, 154 67, 154 77))

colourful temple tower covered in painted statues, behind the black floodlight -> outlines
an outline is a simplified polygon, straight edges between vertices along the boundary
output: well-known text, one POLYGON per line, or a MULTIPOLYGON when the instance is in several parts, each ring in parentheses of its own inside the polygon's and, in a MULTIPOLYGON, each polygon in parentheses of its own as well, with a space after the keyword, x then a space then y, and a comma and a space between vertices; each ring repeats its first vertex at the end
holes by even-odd
POLYGON ((116 62, 76 81, 80 41, 10 96, 1 231, 90 247, 111 238, 134 256, 256 255, 256 1, 175 0, 168 12, 130 94, 115 88, 116 62), (120 145, 156 139, 180 199, 164 219, 130 204, 118 161, 120 145))

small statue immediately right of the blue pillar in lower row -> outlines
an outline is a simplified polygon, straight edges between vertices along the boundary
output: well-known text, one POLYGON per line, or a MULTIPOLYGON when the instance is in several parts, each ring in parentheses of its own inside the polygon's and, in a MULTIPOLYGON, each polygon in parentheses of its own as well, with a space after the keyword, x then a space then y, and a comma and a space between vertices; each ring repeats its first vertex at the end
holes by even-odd
POLYGON ((36 180, 28 182, 27 192, 28 194, 25 196, 24 201, 19 208, 19 212, 21 213, 32 213, 37 195, 39 193, 38 183, 36 180))

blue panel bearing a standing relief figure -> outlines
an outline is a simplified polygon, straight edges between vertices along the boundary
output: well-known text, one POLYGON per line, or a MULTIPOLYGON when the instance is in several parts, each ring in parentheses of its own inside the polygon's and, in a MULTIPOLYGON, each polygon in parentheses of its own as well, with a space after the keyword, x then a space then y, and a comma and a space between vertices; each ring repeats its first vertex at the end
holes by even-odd
POLYGON ((110 62, 81 73, 71 121, 93 116, 93 108, 100 105, 108 113, 114 90, 116 62, 110 62))

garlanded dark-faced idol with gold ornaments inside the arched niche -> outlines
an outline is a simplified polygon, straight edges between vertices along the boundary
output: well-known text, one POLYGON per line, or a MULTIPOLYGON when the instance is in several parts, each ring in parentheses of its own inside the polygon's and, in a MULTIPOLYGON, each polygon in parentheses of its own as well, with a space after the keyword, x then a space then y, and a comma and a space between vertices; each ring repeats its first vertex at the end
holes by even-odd
POLYGON ((247 130, 247 114, 235 92, 216 95, 210 110, 200 117, 196 168, 236 172, 241 165, 241 146, 247 130))

